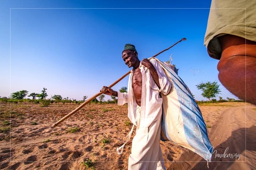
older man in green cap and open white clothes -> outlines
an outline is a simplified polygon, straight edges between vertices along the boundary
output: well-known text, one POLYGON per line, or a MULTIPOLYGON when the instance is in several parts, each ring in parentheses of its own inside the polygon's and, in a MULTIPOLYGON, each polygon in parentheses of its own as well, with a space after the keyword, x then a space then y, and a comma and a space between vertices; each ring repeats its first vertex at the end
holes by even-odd
POLYGON ((128 67, 133 67, 128 92, 120 93, 106 86, 103 86, 102 91, 117 96, 118 105, 128 103, 128 117, 137 126, 128 170, 165 170, 160 148, 161 93, 167 95, 171 84, 154 58, 139 61, 134 45, 125 45, 122 58, 128 67))

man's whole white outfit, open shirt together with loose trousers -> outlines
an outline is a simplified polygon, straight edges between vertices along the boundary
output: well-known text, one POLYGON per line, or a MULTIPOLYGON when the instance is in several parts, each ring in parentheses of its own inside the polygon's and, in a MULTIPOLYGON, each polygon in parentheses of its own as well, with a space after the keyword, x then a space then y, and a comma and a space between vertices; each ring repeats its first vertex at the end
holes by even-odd
POLYGON ((153 64, 159 76, 160 89, 153 80, 149 69, 140 63, 139 69, 142 75, 141 112, 137 121, 135 119, 137 103, 131 86, 133 70, 129 76, 128 92, 118 92, 117 104, 128 103, 129 119, 136 126, 139 122, 139 128, 136 129, 129 156, 128 169, 131 170, 165 169, 160 148, 163 99, 159 93, 167 95, 171 89, 171 84, 159 63, 154 58, 149 61, 153 64))

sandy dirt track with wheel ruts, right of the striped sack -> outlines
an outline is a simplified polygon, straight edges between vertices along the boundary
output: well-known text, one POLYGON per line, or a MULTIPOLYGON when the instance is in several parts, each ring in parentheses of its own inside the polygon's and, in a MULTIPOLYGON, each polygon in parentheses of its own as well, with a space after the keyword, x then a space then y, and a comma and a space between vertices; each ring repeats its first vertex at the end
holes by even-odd
MULTIPOLYGON (((226 108, 208 132, 214 152, 210 170, 256 169, 256 110, 251 104, 226 108)), ((207 162, 191 151, 168 169, 207 170, 207 162), (192 158, 192 159, 191 159, 192 158), (184 161, 184 162, 183 162, 184 161)))

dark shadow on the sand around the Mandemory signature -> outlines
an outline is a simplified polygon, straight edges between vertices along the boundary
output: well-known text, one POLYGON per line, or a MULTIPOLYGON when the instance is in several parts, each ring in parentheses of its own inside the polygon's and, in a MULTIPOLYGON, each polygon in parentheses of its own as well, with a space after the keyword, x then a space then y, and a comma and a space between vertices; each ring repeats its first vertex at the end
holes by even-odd
MULTIPOLYGON (((256 126, 234 130, 226 141, 214 148, 212 162, 209 162, 210 170, 226 170, 232 166, 235 161, 250 164, 250 169, 254 169, 255 162, 251 162, 251 158, 248 159, 248 155, 246 156, 244 151, 256 151, 255 141, 256 126), (239 154, 243 156, 238 157, 239 154), (252 166, 254 166, 254 168, 252 166)), ((252 159, 255 161, 256 158, 252 159)), ((201 161, 205 160, 201 159, 192 170, 207 170, 207 162, 201 161)))

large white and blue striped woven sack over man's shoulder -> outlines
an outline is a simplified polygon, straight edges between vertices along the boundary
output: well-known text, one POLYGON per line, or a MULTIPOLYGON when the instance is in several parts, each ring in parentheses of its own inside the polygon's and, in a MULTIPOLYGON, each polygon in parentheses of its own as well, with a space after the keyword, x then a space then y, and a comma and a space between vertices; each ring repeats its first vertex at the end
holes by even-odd
POLYGON ((187 85, 175 73, 175 67, 173 69, 169 64, 154 59, 160 63, 172 86, 168 95, 162 95, 161 140, 170 140, 210 161, 213 147, 196 101, 187 85))

